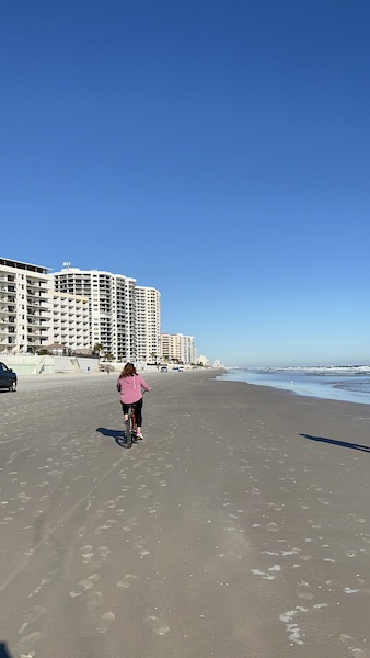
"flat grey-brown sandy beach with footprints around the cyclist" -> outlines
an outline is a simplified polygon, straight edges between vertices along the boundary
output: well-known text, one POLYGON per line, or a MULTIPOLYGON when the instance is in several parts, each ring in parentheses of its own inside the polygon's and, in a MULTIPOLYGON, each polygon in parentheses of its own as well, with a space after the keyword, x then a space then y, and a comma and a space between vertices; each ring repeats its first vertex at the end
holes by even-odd
POLYGON ((0 392, 1 658, 370 658, 370 406, 216 375, 0 392))

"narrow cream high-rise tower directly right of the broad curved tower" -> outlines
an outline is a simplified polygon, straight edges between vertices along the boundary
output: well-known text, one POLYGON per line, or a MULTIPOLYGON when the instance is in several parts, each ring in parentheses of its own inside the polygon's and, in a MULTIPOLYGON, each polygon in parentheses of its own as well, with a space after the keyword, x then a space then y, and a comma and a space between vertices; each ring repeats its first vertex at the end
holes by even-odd
POLYGON ((153 287, 137 285, 137 360, 157 362, 161 358, 161 295, 153 287))

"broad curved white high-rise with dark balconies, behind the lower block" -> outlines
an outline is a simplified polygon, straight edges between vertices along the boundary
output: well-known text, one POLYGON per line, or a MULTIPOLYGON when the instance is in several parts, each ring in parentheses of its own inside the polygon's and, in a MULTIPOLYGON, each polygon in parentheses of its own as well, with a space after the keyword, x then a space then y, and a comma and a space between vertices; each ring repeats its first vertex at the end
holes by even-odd
POLYGON ((70 268, 55 272, 59 293, 82 295, 90 300, 90 343, 103 345, 119 361, 137 360, 136 280, 99 270, 70 268))

